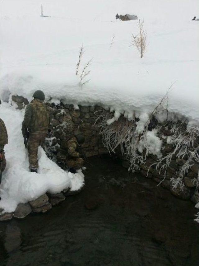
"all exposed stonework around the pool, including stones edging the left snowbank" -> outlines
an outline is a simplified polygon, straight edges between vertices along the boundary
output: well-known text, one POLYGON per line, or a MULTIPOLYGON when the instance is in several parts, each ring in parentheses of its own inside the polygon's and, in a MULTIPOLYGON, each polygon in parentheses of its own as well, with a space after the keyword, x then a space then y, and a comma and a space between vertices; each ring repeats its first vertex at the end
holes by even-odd
MULTIPOLYGON (((25 108, 25 105, 28 104, 28 100, 23 96, 12 96, 12 101, 16 104, 17 109, 25 108)), ((53 103, 49 104, 54 109, 54 114, 51 118, 50 130, 48 133, 48 137, 46 138, 45 150, 47 155, 56 161, 56 153, 57 148, 60 147, 60 139, 67 133, 67 121, 68 119, 72 119, 74 122, 75 129, 80 128, 85 135, 85 142, 82 145, 82 152, 86 157, 97 156, 108 153, 108 144, 103 140, 104 136, 102 131, 100 131, 100 123, 95 124, 95 119, 99 116, 101 111, 110 114, 109 111, 102 109, 100 106, 79 106, 79 110, 74 110, 73 105, 67 105, 60 103, 55 105, 53 103), (106 146, 106 147, 104 147, 106 146)), ((126 118, 122 117, 118 120, 121 124, 117 124, 118 128, 122 128, 123 125, 126 125, 126 118), (126 124, 125 124, 125 123, 126 124)), ((132 122, 133 123, 133 122, 132 122)), ((158 126, 157 121, 150 123, 150 127, 158 126)), ((108 125, 107 125, 108 127, 108 125)), ((161 128, 161 125, 160 125, 161 128)), ((163 137, 163 145, 162 145, 162 154, 163 156, 168 155, 169 153, 174 151, 174 145, 168 144, 166 142, 166 138, 172 135, 171 130, 161 129, 160 134, 163 137)), ((162 138, 162 136, 159 136, 162 138)), ((196 139, 196 142, 199 140, 196 139)), ((122 165, 125 168, 130 168, 130 160, 128 156, 125 155, 125 148, 123 152, 121 152, 120 146, 123 145, 122 142, 119 143, 118 147, 114 152, 111 152, 112 156, 117 156, 122 161, 122 165)), ((195 144, 194 144, 195 145, 195 144)), ((146 151, 143 152, 143 157, 145 157, 146 151)), ((178 172, 181 167, 186 163, 187 157, 185 156, 183 159, 179 159, 175 156, 172 156, 169 167, 166 171, 165 177, 163 177, 160 169, 156 169, 157 166, 157 156, 153 154, 147 154, 146 160, 139 163, 139 167, 136 172, 141 173, 141 175, 150 178, 160 184, 162 187, 169 189, 172 194, 174 194, 178 198, 182 199, 190 199, 193 203, 199 202, 199 194, 197 191, 198 183, 196 182, 198 178, 198 168, 199 164, 194 163, 188 171, 185 172, 183 177, 183 185, 172 185, 172 179, 178 178, 178 172)), ((76 194, 77 192, 63 191, 58 194, 44 194, 40 196, 38 199, 34 201, 30 201, 29 203, 22 204, 20 203, 14 213, 4 213, 0 215, 0 221, 10 220, 12 217, 23 218, 28 215, 30 212, 47 212, 49 211, 53 205, 56 205, 63 200, 65 200, 66 196, 76 194)))

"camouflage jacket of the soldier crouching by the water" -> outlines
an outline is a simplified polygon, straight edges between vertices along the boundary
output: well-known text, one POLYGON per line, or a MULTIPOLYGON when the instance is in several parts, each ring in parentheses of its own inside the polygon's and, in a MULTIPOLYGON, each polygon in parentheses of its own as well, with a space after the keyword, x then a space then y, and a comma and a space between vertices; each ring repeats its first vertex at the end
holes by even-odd
POLYGON ((69 140, 63 140, 61 143, 61 149, 64 150, 69 157, 79 157, 80 153, 76 150, 78 149, 79 144, 77 142, 77 139, 75 137, 69 139, 69 140))

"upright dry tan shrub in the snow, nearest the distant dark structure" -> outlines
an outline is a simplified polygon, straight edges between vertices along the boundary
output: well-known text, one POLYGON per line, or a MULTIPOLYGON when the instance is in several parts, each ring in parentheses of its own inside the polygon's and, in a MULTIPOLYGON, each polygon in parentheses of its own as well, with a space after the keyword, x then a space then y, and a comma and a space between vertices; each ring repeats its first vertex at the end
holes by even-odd
POLYGON ((139 34, 136 36, 132 34, 132 45, 137 48, 141 58, 143 57, 147 46, 146 31, 143 29, 143 25, 144 21, 140 21, 140 19, 138 19, 137 26, 139 29, 139 34))

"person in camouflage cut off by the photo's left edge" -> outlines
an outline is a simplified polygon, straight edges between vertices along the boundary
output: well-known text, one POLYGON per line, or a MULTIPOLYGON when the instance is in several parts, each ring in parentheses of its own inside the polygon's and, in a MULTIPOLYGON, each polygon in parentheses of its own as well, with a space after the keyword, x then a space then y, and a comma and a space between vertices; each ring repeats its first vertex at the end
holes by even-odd
MULTIPOLYGON (((0 184, 2 172, 6 168, 6 158, 4 154, 4 145, 8 142, 7 130, 3 120, 0 118, 0 184)), ((1 199, 1 197, 0 197, 1 199)))

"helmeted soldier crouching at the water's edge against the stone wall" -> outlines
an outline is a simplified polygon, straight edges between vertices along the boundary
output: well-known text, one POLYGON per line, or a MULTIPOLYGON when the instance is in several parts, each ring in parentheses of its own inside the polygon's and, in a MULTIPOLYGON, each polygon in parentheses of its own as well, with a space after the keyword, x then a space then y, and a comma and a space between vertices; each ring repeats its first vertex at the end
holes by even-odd
MULTIPOLYGON (((58 164, 66 163, 68 171, 76 173, 76 170, 83 166, 84 160, 80 157, 80 146, 84 143, 84 135, 81 131, 76 130, 71 138, 62 140, 59 152, 57 154, 58 164)), ((60 165, 61 166, 61 165, 60 165)))

